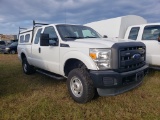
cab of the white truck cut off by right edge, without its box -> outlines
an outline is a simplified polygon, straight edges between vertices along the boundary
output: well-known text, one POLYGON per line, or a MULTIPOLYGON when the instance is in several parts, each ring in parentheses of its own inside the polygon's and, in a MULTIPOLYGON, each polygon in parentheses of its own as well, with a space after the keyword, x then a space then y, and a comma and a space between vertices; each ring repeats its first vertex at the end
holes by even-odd
POLYGON ((160 70, 160 23, 129 26, 124 38, 143 42, 149 67, 160 70))

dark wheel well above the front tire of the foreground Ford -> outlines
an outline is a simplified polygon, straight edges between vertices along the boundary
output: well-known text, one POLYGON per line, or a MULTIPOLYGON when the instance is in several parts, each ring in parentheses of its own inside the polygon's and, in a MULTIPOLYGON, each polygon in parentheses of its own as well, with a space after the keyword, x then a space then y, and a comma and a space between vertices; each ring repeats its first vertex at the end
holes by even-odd
POLYGON ((82 61, 78 60, 78 59, 69 59, 69 60, 67 60, 66 63, 65 63, 65 66, 64 66, 65 76, 68 76, 68 74, 69 74, 69 72, 71 70, 73 70, 75 68, 81 68, 82 66, 85 66, 85 64, 82 61))

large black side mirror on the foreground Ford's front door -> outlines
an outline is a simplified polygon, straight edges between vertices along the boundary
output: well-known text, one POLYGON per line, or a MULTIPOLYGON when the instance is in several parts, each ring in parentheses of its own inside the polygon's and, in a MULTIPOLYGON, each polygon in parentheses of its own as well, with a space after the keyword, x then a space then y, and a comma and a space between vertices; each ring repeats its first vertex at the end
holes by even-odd
POLYGON ((49 46, 49 34, 41 34, 40 46, 49 46))

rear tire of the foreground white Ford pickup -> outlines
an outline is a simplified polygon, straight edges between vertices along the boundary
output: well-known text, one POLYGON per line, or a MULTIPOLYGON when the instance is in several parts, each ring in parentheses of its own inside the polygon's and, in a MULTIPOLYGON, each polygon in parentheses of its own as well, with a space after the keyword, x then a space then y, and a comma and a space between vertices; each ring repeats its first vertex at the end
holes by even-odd
POLYGON ((26 58, 22 59, 22 68, 23 68, 23 72, 27 75, 35 73, 34 67, 29 65, 26 58))

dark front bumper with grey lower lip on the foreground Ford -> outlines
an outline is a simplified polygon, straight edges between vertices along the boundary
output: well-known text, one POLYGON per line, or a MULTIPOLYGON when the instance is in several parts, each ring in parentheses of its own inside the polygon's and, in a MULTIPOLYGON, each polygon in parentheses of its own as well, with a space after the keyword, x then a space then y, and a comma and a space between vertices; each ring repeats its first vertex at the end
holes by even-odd
POLYGON ((138 86, 148 72, 145 65, 139 69, 118 73, 113 70, 90 71, 94 87, 100 96, 117 95, 138 86))

